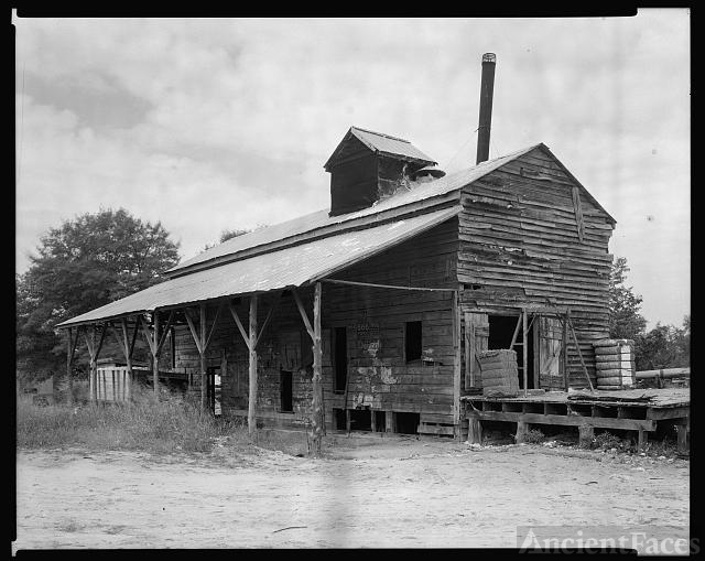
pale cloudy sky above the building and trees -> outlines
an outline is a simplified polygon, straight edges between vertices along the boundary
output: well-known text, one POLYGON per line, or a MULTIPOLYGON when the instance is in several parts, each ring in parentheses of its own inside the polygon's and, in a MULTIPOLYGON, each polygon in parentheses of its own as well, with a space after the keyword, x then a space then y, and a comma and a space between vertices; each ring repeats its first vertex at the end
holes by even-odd
POLYGON ((25 19, 15 26, 15 270, 100 208, 161 224, 183 259, 225 229, 329 206, 350 126, 475 164, 539 142, 616 218, 641 313, 691 306, 690 10, 552 19, 25 19))

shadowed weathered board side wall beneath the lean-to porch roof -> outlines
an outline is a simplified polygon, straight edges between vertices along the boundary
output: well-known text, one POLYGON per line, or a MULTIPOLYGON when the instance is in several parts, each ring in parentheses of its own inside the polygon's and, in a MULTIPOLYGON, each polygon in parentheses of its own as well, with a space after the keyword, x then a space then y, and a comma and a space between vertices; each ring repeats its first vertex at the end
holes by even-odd
MULTIPOLYGON (((457 219, 358 263, 338 279, 372 283, 456 288, 457 219)), ((452 422, 454 345, 452 293, 390 289, 323 287, 323 388, 326 424, 334 425, 334 409, 343 409, 344 395, 334 392, 333 327, 347 327, 348 408, 440 414, 452 422), (404 325, 422 321, 427 362, 404 359, 404 325), (372 326, 370 331, 369 327, 372 326), (377 344, 370 333, 379 333, 377 344), (365 337, 365 344, 362 338, 365 337)), ((300 291, 313 316, 313 290, 300 291)), ((260 296, 258 324, 264 322, 273 296, 260 296)), ((248 299, 235 306, 247 325, 248 299)), ((210 324, 215 306, 207 310, 210 324)), ((197 371, 199 355, 187 326, 175 327, 175 366, 197 371)), ((242 411, 248 402, 248 353, 228 310, 223 310, 207 350, 207 365, 219 367, 225 350, 227 367, 220 373, 223 410, 242 411)), ((258 346, 258 417, 276 423, 305 423, 312 400, 312 342, 291 294, 281 298, 258 346), (280 410, 281 370, 292 371, 293 412, 280 410)), ((197 378, 197 377, 196 377, 197 378)), ((197 382, 194 385, 196 389, 197 382)), ((265 421, 268 422, 268 421, 265 421)))

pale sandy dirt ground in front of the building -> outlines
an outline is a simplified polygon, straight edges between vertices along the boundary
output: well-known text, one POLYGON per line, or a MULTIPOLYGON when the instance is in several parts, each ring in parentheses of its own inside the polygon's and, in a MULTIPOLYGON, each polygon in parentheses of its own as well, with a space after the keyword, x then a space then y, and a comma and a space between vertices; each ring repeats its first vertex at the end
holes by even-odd
POLYGON ((339 439, 312 460, 18 451, 18 549, 514 548, 520 525, 688 526, 688 462, 339 439))

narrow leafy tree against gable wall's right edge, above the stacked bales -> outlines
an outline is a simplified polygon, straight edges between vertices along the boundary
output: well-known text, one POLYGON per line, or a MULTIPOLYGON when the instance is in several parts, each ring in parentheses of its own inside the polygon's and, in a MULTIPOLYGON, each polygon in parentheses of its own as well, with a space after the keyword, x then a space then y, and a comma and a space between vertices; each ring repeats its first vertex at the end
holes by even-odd
POLYGON ((639 313, 642 298, 634 294, 632 287, 626 287, 626 257, 618 257, 609 274, 609 336, 633 339, 643 333, 647 320, 639 313))

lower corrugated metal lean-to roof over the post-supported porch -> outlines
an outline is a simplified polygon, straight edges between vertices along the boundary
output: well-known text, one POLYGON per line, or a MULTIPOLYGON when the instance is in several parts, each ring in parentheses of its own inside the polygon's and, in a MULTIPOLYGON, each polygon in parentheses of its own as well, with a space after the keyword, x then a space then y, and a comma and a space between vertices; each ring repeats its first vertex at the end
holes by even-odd
POLYGON ((73 317, 58 326, 153 311, 189 302, 301 287, 400 244, 448 218, 459 206, 340 233, 278 251, 170 279, 73 317))

